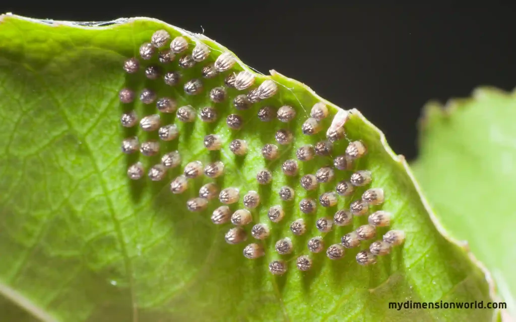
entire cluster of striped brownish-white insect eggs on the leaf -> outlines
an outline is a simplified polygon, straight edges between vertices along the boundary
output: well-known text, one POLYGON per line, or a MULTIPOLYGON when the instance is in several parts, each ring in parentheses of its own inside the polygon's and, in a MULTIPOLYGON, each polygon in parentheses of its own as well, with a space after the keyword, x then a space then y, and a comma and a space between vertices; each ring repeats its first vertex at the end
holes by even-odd
MULTIPOLYGON (((170 40, 170 35, 165 30, 156 31, 151 42, 144 43, 140 47, 140 56, 142 59, 150 59, 154 56, 159 47, 163 47, 170 40)), ((170 63, 175 59, 176 54, 181 54, 188 48, 188 42, 183 37, 176 37, 170 43, 170 49, 162 50, 158 53, 159 62, 170 63)), ((180 67, 189 68, 197 62, 205 60, 210 53, 209 48, 198 43, 193 48, 191 55, 183 55, 178 59, 180 67)), ((222 53, 213 64, 207 64, 202 69, 203 78, 211 78, 218 73, 231 70, 236 63, 234 57, 229 53, 222 53)), ((139 70, 139 62, 136 58, 125 61, 124 70, 127 73, 136 73, 139 70)), ((157 79, 160 76, 158 66, 148 66, 145 69, 145 75, 149 79, 157 79)), ((178 72, 168 72, 163 75, 164 81, 169 86, 175 86, 180 82, 181 74, 178 72)), ((247 71, 238 74, 230 73, 224 81, 225 87, 233 87, 238 90, 245 90, 254 83, 254 75, 247 71)), ((233 99, 233 105, 237 110, 249 109, 253 103, 259 100, 272 97, 277 93, 276 83, 271 80, 265 80, 259 87, 250 90, 247 94, 237 95, 233 99)), ((203 83, 201 79, 192 79, 184 83, 184 91, 187 95, 196 95, 203 91, 203 83)), ((136 94, 130 89, 122 89, 119 93, 122 103, 131 103, 136 94)), ((196 118, 196 110, 187 105, 177 108, 176 101, 171 97, 157 98, 156 94, 149 89, 144 89, 140 93, 140 100, 144 104, 156 103, 157 109, 162 113, 176 112, 178 119, 182 122, 193 122, 196 118)), ((215 87, 209 93, 209 98, 214 103, 220 103, 227 98, 224 87, 215 87)), ((214 122, 217 118, 217 111, 211 107, 202 109, 200 118, 203 122, 214 122)), ((296 116, 296 110, 292 106, 282 106, 278 110, 270 106, 265 106, 258 111, 258 117, 261 121, 268 122, 277 117, 281 122, 292 121, 296 116)), ((328 116, 328 109, 324 103, 317 103, 311 110, 310 117, 302 125, 302 132, 306 135, 313 135, 321 130, 320 121, 328 116)), ((125 127, 132 127, 138 123, 138 117, 134 111, 124 113, 121 117, 121 123, 125 127)), ((237 114, 230 114, 226 120, 227 125, 232 129, 239 129, 243 125, 243 120, 237 114)), ((141 118, 140 127, 144 131, 158 131, 159 138, 163 141, 170 141, 178 137, 178 128, 173 125, 160 124, 158 114, 152 114, 141 118)), ((332 143, 336 140, 344 138, 343 127, 330 128, 327 132, 327 141, 318 142, 315 146, 305 145, 300 147, 296 152, 299 161, 310 161, 316 155, 329 156, 332 143)), ((290 144, 293 141, 293 134, 286 129, 280 129, 276 132, 275 139, 278 144, 290 144)), ((221 148, 221 138, 217 134, 209 134, 204 138, 204 146, 208 150, 218 150, 221 148)), ((130 154, 140 150, 144 156, 153 156, 159 152, 159 144, 156 141, 148 141, 139 143, 137 137, 131 137, 123 140, 122 151, 130 154)), ((230 143, 230 150, 236 155, 245 155, 248 146, 245 140, 233 140, 230 143)), ((349 170, 350 164, 354 159, 360 158, 366 153, 366 148, 362 142, 352 142, 346 149, 344 156, 337 156, 333 165, 338 170, 349 170)), ((267 160, 274 160, 279 157, 279 149, 275 144, 266 144, 262 148, 262 155, 267 160)), ((168 168, 173 168, 181 163, 181 156, 178 151, 172 151, 162 157, 161 163, 152 166, 148 172, 151 180, 162 180, 168 168)), ((183 175, 176 177, 170 183, 172 193, 179 194, 188 188, 188 179, 200 176, 202 173, 210 178, 216 178, 222 175, 224 165, 221 161, 207 164, 203 167, 200 161, 192 161, 184 167, 183 175)), ((285 175, 294 176, 297 174, 297 161, 287 160, 282 164, 282 171, 285 175)), ((140 179, 144 174, 143 165, 137 162, 128 167, 127 175, 131 179, 140 179)), ((306 190, 317 188, 318 183, 329 182, 333 179, 334 170, 331 167, 320 168, 315 175, 309 174, 301 178, 301 187, 306 190)), ((256 180, 260 184, 268 184, 271 182, 272 174, 268 170, 262 170, 256 175, 256 180)), ((337 183, 335 192, 326 192, 319 198, 319 202, 323 207, 332 207, 336 205, 337 195, 348 196, 353 192, 353 187, 363 186, 371 181, 371 174, 368 171, 358 171, 354 173, 350 180, 337 183)), ((207 207, 208 201, 216 198, 226 205, 233 204, 240 199, 240 192, 237 188, 226 188, 219 191, 215 183, 207 183, 199 191, 199 197, 191 198, 187 201, 187 208, 190 211, 201 211, 207 207)), ((288 201, 294 198, 294 189, 291 187, 282 187, 279 191, 282 200, 288 201)), ((244 206, 247 209, 239 209, 231 213, 228 206, 218 207, 212 214, 212 221, 215 224, 224 224, 229 221, 236 227, 230 229, 225 234, 225 240, 229 244, 237 244, 247 239, 246 232, 242 226, 252 222, 252 216, 248 209, 256 208, 260 203, 260 195, 255 191, 248 192, 243 199, 244 206)), ((351 223, 353 215, 363 215, 367 213, 369 205, 378 205, 383 202, 382 189, 367 190, 361 200, 351 203, 350 209, 337 211, 332 219, 319 218, 316 227, 321 232, 328 232, 333 225, 346 226, 351 223)), ((299 204, 300 211, 309 214, 315 211, 315 200, 305 198, 299 204)), ((268 211, 268 216, 273 223, 281 221, 284 216, 281 206, 273 206, 268 211)), ((376 226, 388 226, 390 222, 390 214, 384 211, 377 211, 369 216, 369 225, 359 227, 356 231, 343 236, 341 244, 334 244, 328 247, 327 256, 330 259, 340 259, 344 256, 344 248, 357 247, 361 240, 372 239, 376 235, 376 226)), ((297 219, 291 225, 291 231, 295 235, 304 234, 306 227, 302 218, 297 219)), ((255 239, 263 240, 269 236, 270 229, 266 224, 256 224, 251 230, 251 234, 255 239)), ((399 245, 404 240, 402 231, 391 230, 386 233, 382 241, 374 242, 370 245, 369 251, 361 251, 357 255, 357 262, 360 264, 371 264, 375 262, 378 255, 386 255, 389 253, 391 246, 399 245)), ((321 237, 312 238, 308 243, 311 252, 320 252, 324 249, 324 241, 321 237)), ((276 250, 281 255, 291 253, 293 249, 292 240, 284 238, 276 243, 276 250)), ((244 248, 244 256, 255 259, 265 254, 264 249, 257 243, 251 243, 244 248)), ((311 267, 311 260, 308 256, 300 256, 297 259, 297 267, 301 270, 307 270, 311 267)), ((280 275, 286 271, 286 263, 282 260, 273 261, 269 265, 272 274, 280 275)))

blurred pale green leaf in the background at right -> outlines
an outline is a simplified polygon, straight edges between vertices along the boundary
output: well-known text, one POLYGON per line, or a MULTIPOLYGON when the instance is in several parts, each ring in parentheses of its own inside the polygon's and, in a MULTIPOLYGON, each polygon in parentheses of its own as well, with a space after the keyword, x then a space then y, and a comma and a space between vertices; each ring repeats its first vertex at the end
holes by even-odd
POLYGON ((480 88, 472 98, 446 107, 431 102, 424 111, 417 178, 444 227, 467 241, 516 316, 515 93, 480 88))

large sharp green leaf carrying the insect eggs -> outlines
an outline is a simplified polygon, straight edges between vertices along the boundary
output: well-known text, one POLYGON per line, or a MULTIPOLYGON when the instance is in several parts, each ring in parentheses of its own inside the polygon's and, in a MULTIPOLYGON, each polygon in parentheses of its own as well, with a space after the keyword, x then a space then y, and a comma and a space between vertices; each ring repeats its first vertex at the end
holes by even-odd
MULTIPOLYGON (((249 89, 230 88, 227 100, 211 103, 208 92, 222 86, 224 77, 249 71, 240 61, 231 71, 203 79, 203 93, 186 95, 184 81, 201 78, 202 67, 226 51, 202 35, 151 19, 84 27, 2 16, 0 141, 6 144, 0 154, 0 292, 12 306, 45 321, 491 320, 495 312, 490 309, 389 309, 389 302, 407 300, 486 303, 491 300, 489 285, 467 251, 434 226, 404 158, 393 154, 383 134, 357 110, 349 111, 346 138, 334 144, 332 156, 344 155, 350 141, 362 140, 368 151, 353 162, 353 171, 370 170, 372 183, 349 197, 338 197, 336 207, 325 209, 317 202, 316 213, 301 214, 302 198, 318 199, 321 193, 334 190, 336 182, 348 180, 353 171, 335 170, 332 182, 307 192, 300 187, 300 177, 331 166, 332 158, 316 156, 298 162, 299 173, 294 177, 285 176, 281 164, 295 160, 300 146, 325 140, 338 108, 304 84, 276 72, 255 74, 251 88, 272 79, 278 93, 249 110, 237 111, 231 104, 235 95, 249 89), (172 38, 183 35, 190 44, 188 53, 196 41, 212 48, 204 62, 181 70, 182 82, 175 87, 166 86, 162 79, 146 79, 141 69, 131 75, 122 69, 123 62, 138 56, 140 44, 158 29, 166 29, 172 38), (169 170, 163 180, 151 181, 147 176, 130 180, 126 175, 127 167, 137 160, 149 169, 159 157, 120 151, 122 140, 131 135, 138 135, 140 142, 157 139, 156 131, 121 126, 124 111, 134 108, 140 116, 156 113, 154 104, 143 105, 139 99, 134 104, 120 103, 118 93, 124 87, 138 93, 148 87, 159 97, 175 98, 178 106, 189 104, 197 111, 214 106, 219 113, 214 123, 203 123, 197 117, 192 123, 182 123, 174 113, 162 114, 162 122, 176 124, 180 134, 178 139, 160 143, 160 153, 178 150, 182 158, 181 166, 169 170), (303 135, 301 125, 319 101, 327 104, 330 115, 321 121, 318 134, 303 135), (292 105, 297 111, 295 120, 261 122, 256 113, 265 105, 292 105), (244 119, 241 130, 226 125, 226 116, 235 112, 244 119), (291 129, 294 141, 279 145, 277 160, 266 161, 261 148, 277 144, 275 133, 281 128, 291 129), (204 136, 211 133, 220 135, 221 151, 207 151, 203 146, 204 136), (247 142, 246 156, 232 154, 229 142, 233 139, 247 142), (221 160, 224 174, 217 179, 201 175, 189 180, 184 193, 172 194, 172 179, 195 160, 203 164, 221 160), (262 168, 271 171, 270 184, 257 183, 255 176, 262 168), (259 192, 261 204, 251 211, 253 223, 267 224, 269 238, 262 242, 248 236, 245 243, 226 243, 224 234, 231 224, 214 225, 210 219, 221 205, 217 199, 209 201, 204 211, 188 211, 187 200, 198 196, 208 182, 240 190, 239 201, 230 205, 232 210, 244 208, 245 193, 259 192), (295 190, 293 201, 280 200, 278 191, 283 185, 295 190), (324 235, 329 246, 367 223, 367 216, 356 216, 352 225, 325 234, 315 227, 317 218, 332 217, 337 209, 348 208, 370 187, 385 191, 384 204, 371 210, 393 215, 391 227, 378 228, 376 239, 397 229, 405 231, 405 243, 394 247, 390 255, 378 257, 374 265, 361 266, 355 259, 372 242, 366 241, 346 249, 340 260, 330 260, 324 251, 311 254, 312 268, 298 270, 297 257, 309 255, 309 238, 324 235), (273 205, 283 206, 285 217, 279 223, 267 217, 273 205), (289 231, 297 218, 304 218, 307 226, 301 236, 289 231), (275 251, 276 241, 283 237, 293 241, 291 255, 275 251), (251 242, 263 245, 264 257, 250 260, 243 256, 245 245, 251 242), (280 258, 288 270, 274 276, 268 264, 280 258)), ((180 70, 178 59, 164 68, 180 70)), ((147 66, 157 59, 140 59, 140 63, 147 66)), ((248 233, 251 226, 245 227, 248 233)), ((0 315, 8 320, 15 318, 4 313, 0 315)))

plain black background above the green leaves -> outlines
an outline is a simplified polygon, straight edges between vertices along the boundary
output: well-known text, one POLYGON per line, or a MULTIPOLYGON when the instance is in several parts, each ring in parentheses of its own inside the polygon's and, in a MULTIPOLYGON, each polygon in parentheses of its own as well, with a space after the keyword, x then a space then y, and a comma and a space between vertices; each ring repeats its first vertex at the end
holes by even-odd
POLYGON ((256 70, 275 69, 338 106, 357 107, 409 160, 417 153, 416 122, 426 101, 445 103, 483 84, 516 87, 515 6, 301 3, 45 2, 38 8, 20 1, 0 5, 0 11, 69 21, 149 16, 194 32, 204 29, 256 70))

